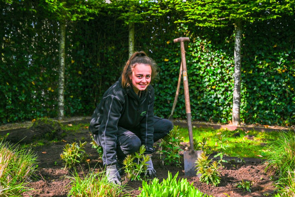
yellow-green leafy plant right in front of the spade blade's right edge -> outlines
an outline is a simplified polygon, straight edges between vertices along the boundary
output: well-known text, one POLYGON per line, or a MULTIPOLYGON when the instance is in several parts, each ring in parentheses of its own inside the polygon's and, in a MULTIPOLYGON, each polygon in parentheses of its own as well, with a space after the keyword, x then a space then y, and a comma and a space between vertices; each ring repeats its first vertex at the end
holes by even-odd
POLYGON ((195 162, 197 164, 196 170, 198 170, 196 175, 201 173, 199 178, 200 182, 207 184, 212 183, 213 185, 217 186, 221 180, 220 173, 218 172, 220 166, 218 166, 217 161, 212 162, 212 159, 208 159, 208 157, 209 155, 206 156, 206 151, 201 153, 201 156, 195 162))

